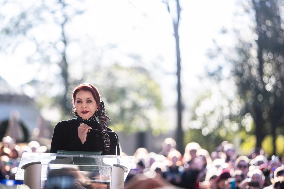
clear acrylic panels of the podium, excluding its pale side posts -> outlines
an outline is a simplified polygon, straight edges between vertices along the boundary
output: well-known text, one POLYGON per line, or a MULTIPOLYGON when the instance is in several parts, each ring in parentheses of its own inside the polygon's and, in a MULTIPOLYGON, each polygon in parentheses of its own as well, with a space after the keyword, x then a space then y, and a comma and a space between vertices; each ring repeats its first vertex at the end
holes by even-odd
POLYGON ((41 180, 47 180, 49 175, 71 175, 74 176, 75 181, 110 182, 114 164, 127 168, 128 171, 124 173, 125 180, 134 161, 134 156, 25 152, 22 154, 15 179, 24 179, 24 170, 21 169, 24 165, 41 162, 41 180))

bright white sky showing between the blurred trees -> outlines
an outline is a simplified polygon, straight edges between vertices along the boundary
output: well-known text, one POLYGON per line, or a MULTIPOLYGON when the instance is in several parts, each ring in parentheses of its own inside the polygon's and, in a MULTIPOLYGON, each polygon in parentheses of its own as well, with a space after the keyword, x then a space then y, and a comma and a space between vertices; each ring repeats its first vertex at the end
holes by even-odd
MULTIPOLYGON (((76 1, 73 1, 76 2, 76 1)), ((174 3, 175 1, 170 1, 174 3)), ((30 6, 26 4, 25 6, 30 6)), ((212 39, 218 37, 222 27, 232 27, 235 2, 227 0, 180 0, 180 51, 182 64, 183 99, 189 107, 193 105, 205 85, 198 77, 204 76, 204 66, 216 66, 206 57, 207 50, 213 46, 212 39)), ((88 11, 78 16, 68 25, 67 33, 80 44, 70 43, 67 54, 70 59, 70 73, 80 78, 89 69, 90 60, 101 65, 119 62, 124 66, 145 66, 160 84, 164 104, 176 103, 176 58, 172 18, 161 0, 120 0, 85 1, 88 11), (92 39, 90 41, 90 39, 92 39), (114 45, 114 48, 109 48, 114 45), (90 49, 86 53, 83 48, 90 49), (133 61, 129 55, 139 56, 133 61), (96 55, 102 55, 96 59, 96 55), (92 56, 95 58, 92 59, 92 56)), ((6 12, 17 12, 15 7, 6 12), (13 11, 11 11, 13 10, 13 11)), ((2 11, 2 10, 1 10, 2 11)), ((10 13, 11 14, 11 13, 10 13)), ((34 30, 38 38, 58 35, 58 28, 46 25, 34 30), (42 33, 44 35, 42 35, 42 33)), ((223 43, 232 43, 227 39, 223 43)), ((20 45, 14 55, 0 53, 0 76, 14 89, 38 77, 42 81, 52 79, 51 73, 58 73, 56 66, 38 73, 40 64, 30 65, 25 57, 35 50, 34 45, 20 45)), ((56 60, 57 57, 52 57, 56 60)), ((28 92, 33 95, 33 92, 28 92)))

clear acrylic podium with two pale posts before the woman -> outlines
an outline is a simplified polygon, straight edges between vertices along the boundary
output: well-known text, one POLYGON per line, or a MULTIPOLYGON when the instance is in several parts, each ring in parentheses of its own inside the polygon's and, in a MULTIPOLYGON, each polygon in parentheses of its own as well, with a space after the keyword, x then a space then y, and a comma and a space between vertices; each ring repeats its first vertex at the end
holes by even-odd
POLYGON ((74 188, 90 188, 90 185, 103 183, 107 188, 120 189, 134 161, 134 156, 25 152, 15 179, 24 180, 31 189, 52 188, 49 187, 52 180, 74 188))

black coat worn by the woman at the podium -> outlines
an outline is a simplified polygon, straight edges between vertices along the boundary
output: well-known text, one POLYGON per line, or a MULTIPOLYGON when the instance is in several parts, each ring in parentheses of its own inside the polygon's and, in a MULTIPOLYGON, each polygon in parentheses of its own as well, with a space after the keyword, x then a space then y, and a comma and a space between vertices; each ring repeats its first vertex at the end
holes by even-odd
MULTIPOLYGON (((87 133, 87 139, 84 144, 78 136, 78 127, 80 120, 69 119, 57 123, 54 127, 53 136, 51 140, 50 153, 57 153, 57 150, 68 151, 102 151, 104 153, 104 143, 101 131, 90 131, 87 133)), ((96 121, 88 126, 93 129, 100 129, 99 123, 96 121)), ((107 131, 112 131, 106 127, 107 131)), ((108 133, 110 139, 109 155, 116 155, 117 139, 114 133, 108 133)))

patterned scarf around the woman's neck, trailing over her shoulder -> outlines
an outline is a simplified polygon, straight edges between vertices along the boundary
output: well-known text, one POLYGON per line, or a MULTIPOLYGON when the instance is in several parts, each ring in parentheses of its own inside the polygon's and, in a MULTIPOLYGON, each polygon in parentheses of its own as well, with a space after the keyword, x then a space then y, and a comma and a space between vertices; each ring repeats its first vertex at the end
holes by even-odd
MULTIPOLYGON (((80 117, 78 115, 77 111, 75 111, 75 115, 76 115, 77 118, 80 117)), ((96 111, 91 118, 82 119, 82 122, 88 125, 88 123, 96 122, 97 117, 99 118, 99 121, 100 121, 100 124, 99 124, 100 130, 106 130, 106 121, 109 120, 109 117, 107 117, 107 115, 106 115, 106 109, 104 107, 104 101, 102 101, 102 100, 100 101, 99 110, 96 111)), ((103 138, 103 142, 104 142, 104 150, 106 151, 106 153, 104 153, 104 154, 106 155, 106 154, 109 154, 110 139, 109 139, 109 135, 106 132, 101 131, 101 134, 103 136, 102 138, 103 138)))

